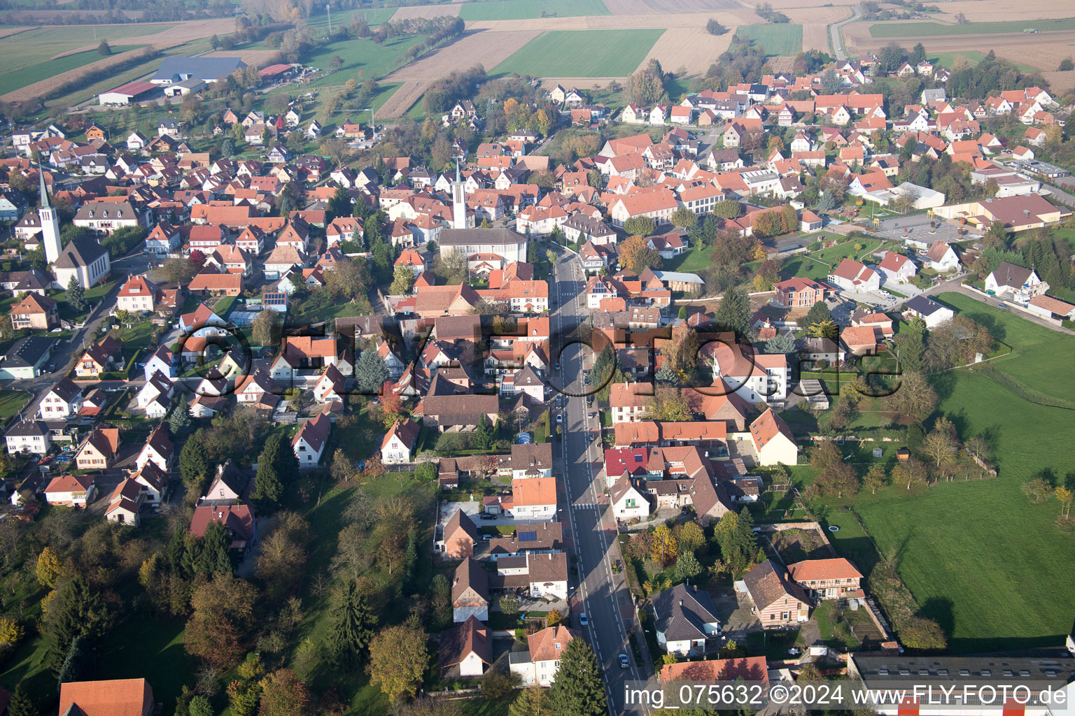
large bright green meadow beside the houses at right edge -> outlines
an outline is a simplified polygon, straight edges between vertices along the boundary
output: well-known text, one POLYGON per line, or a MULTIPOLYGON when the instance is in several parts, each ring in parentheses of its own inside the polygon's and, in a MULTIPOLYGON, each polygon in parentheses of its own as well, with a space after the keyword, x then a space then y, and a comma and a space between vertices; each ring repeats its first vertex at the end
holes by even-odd
MULTIPOLYGON (((1075 339, 969 296, 940 299, 990 326, 1013 347, 990 363, 1029 389, 1075 400, 1069 378, 1075 339)), ((961 437, 984 435, 998 466, 995 480, 971 480, 907 492, 890 485, 859 493, 845 503, 827 501, 825 521, 841 527, 833 543, 858 559, 863 573, 876 552, 894 555, 904 583, 926 616, 937 619, 952 652, 989 652, 1056 645, 1071 629, 1075 591, 1075 537, 1056 524, 1060 503, 1034 505, 1020 487, 1042 474, 1071 486, 1075 474, 1075 419, 1071 410, 1027 401, 981 367, 937 374, 932 382, 944 414, 961 437), (1026 585, 1033 584, 1033 589, 1026 585)), ((927 425, 930 421, 927 421, 927 425)))

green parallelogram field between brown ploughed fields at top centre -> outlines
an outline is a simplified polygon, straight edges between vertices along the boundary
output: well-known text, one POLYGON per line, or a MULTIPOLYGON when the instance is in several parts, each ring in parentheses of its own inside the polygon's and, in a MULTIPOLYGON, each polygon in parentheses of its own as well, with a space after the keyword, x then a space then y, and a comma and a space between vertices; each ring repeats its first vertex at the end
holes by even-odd
POLYGON ((626 77, 639 69, 663 29, 543 32, 492 74, 535 77, 626 77))

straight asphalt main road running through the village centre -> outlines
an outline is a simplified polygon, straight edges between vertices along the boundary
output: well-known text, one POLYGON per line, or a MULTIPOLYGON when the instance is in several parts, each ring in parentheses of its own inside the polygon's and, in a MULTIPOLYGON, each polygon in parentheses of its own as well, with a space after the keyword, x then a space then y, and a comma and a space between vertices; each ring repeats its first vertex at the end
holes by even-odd
MULTIPOLYGON (((577 257, 564 254, 565 260, 557 263, 554 271, 554 295, 557 309, 553 315, 553 330, 565 336, 578 325, 587 310, 578 306, 585 286, 582 265, 577 257)), ((559 342, 563 346, 565 341, 559 342)), ((570 595, 572 625, 579 628, 577 614, 586 612, 590 624, 582 628, 598 661, 604 669, 608 697, 608 713, 614 716, 624 713, 624 686, 628 680, 644 678, 644 671, 635 664, 628 641, 628 632, 635 628, 632 599, 622 573, 614 574, 612 567, 621 564, 619 546, 616 542, 616 521, 604 494, 603 486, 594 480, 600 471, 602 451, 593 444, 600 435, 597 408, 587 408, 584 393, 590 389, 584 384, 584 361, 587 366, 592 360, 588 348, 579 345, 568 346, 562 353, 554 342, 553 361, 559 360, 561 372, 555 374, 554 384, 564 386, 568 394, 563 423, 563 439, 554 445, 562 465, 568 534, 574 553, 575 565, 580 575, 570 595), (594 415, 590 418, 592 412, 594 415), (630 667, 624 669, 619 655, 626 654, 630 667)), ((636 638, 645 651, 644 634, 636 629, 636 638)))

